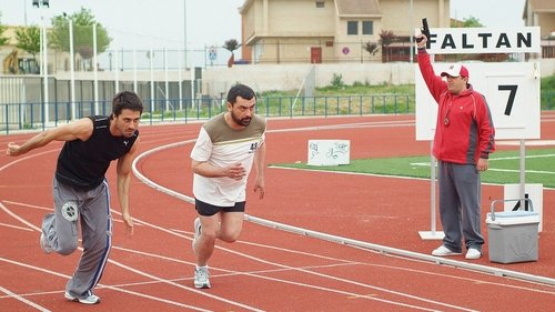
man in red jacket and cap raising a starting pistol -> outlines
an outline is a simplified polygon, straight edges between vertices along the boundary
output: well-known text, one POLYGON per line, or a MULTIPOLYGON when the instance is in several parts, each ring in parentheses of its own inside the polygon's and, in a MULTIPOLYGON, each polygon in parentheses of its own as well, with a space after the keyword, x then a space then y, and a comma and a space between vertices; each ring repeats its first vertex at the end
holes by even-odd
POLYGON ((468 70, 451 64, 436 76, 426 52, 427 38, 418 37, 418 67, 430 93, 437 102, 433 154, 440 164, 440 217, 445 238, 432 254, 480 259, 484 236, 481 231, 480 172, 487 170, 495 151, 495 129, 484 95, 468 83, 468 70))

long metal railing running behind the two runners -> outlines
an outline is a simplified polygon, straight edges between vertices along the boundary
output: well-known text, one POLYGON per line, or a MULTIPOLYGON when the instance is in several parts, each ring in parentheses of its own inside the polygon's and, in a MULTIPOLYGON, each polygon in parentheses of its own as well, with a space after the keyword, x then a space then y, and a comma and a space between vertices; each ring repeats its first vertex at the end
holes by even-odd
MULTIPOLYGON (((143 99, 141 123, 191 122, 208 120, 226 110, 225 98, 143 99)), ((3 103, 0 104, 0 133, 53 128, 93 114, 111 113, 109 101, 3 103), (48 112, 47 112, 48 109, 48 112), (73 111, 74 110, 74 111, 73 111), (48 118, 48 120, 47 120, 48 118)), ((414 97, 408 94, 259 97, 256 113, 273 117, 331 117, 414 113, 414 97)))

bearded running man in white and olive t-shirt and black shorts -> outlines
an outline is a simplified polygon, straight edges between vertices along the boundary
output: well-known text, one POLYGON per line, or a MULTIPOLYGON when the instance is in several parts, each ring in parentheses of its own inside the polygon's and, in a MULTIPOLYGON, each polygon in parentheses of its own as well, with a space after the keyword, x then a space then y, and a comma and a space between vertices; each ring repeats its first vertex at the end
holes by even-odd
POLYGON ((254 114, 254 91, 236 84, 228 93, 228 111, 209 120, 191 151, 194 220, 194 286, 209 289, 208 261, 215 240, 232 243, 243 227, 246 178, 256 169, 254 192, 264 198, 265 120, 254 114))

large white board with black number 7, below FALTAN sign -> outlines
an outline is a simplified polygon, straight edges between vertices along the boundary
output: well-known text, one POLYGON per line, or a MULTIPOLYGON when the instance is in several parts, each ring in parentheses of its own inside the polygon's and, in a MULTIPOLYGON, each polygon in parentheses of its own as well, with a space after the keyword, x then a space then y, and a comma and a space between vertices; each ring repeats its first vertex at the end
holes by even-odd
MULTIPOLYGON (((482 93, 492 112, 495 139, 539 139, 539 63, 463 63, 468 82, 482 93)), ((435 73, 448 63, 434 63, 435 73)), ((415 66, 416 140, 434 139, 437 103, 415 66)))

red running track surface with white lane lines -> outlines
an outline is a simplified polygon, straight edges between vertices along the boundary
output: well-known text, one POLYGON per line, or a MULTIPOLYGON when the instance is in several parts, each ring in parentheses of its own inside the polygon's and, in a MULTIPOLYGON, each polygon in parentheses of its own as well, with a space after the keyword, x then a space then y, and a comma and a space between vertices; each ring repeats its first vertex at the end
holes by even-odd
MULTIPOLYGON (((555 114, 543 114, 542 139, 555 139, 555 114)), ((143 127, 141 152, 192 140, 200 124, 143 127)), ((268 163, 306 161, 309 139, 351 140, 351 158, 424 155, 414 140, 414 117, 270 120, 268 163), (324 125, 335 124, 335 128, 324 125), (346 127, 349 125, 350 127, 346 127), (311 128, 317 127, 317 128, 311 128), (299 131, 299 128, 306 128, 299 131), (296 131, 275 131, 297 129, 296 131)), ((0 144, 31 134, 1 137, 0 144)), ((21 158, 0 158, 0 311, 81 311, 63 289, 80 252, 41 252, 39 227, 51 210, 51 180, 61 143, 21 158)), ((191 195, 191 143, 147 155, 138 170, 160 185, 191 195)), ((516 149, 498 147, 503 149, 516 149)), ((114 185, 113 168, 109 179, 114 185)), ((440 241, 430 230, 430 181, 269 168, 266 198, 248 200, 253 217, 312 231, 430 254, 440 241)), ((483 187, 483 219, 503 187, 483 187)), ((112 198, 117 205, 115 192, 112 198)), ((462 263, 555 279, 555 191, 544 190, 537 262, 498 264, 484 256, 462 263)), ((114 246, 94 311, 549 311, 555 285, 515 280, 347 246, 245 222, 241 240, 219 243, 210 262, 210 290, 192 286, 192 204, 134 179, 135 234, 118 215, 114 246)), ((441 225, 437 224, 441 230, 441 225)))

